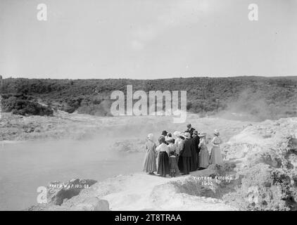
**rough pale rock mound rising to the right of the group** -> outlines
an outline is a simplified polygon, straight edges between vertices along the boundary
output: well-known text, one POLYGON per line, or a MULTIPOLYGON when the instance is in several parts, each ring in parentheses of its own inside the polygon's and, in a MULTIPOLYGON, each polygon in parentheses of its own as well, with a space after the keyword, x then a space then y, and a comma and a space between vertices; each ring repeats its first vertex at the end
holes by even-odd
POLYGON ((223 196, 247 210, 297 210, 297 118, 249 126, 223 147, 240 181, 223 196))

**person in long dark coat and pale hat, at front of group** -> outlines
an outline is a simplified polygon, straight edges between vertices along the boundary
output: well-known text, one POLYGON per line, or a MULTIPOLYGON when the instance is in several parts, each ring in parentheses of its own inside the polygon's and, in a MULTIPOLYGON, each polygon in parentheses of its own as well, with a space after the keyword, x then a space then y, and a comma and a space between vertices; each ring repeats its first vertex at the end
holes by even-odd
POLYGON ((179 170, 183 175, 189 174, 191 170, 191 153, 194 150, 193 140, 191 139, 191 134, 184 133, 184 147, 179 154, 179 170))

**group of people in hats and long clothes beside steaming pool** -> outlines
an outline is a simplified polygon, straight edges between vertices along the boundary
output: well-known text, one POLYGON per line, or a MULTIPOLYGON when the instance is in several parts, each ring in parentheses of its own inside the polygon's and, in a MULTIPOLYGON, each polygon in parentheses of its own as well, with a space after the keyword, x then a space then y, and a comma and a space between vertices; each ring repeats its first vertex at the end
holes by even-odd
POLYGON ((210 164, 222 164, 220 132, 215 130, 213 134, 210 154, 206 146, 206 133, 198 133, 191 124, 187 125, 186 131, 175 131, 173 136, 163 131, 158 138, 158 146, 153 141, 153 134, 148 134, 144 171, 174 177, 206 169, 210 164))

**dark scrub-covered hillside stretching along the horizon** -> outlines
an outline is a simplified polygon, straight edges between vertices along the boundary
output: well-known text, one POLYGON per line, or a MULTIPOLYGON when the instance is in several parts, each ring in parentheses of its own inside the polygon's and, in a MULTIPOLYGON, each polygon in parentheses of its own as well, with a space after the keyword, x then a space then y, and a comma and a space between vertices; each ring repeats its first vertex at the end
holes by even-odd
MULTIPOLYGON (((172 79, 3 79, 2 110, 21 115, 110 115, 110 94, 119 90, 187 91, 190 113, 251 115, 254 120, 297 115, 296 77, 191 77, 172 79), (42 104, 39 104, 42 103, 42 104)), ((137 100, 134 100, 137 101, 137 100)), ((165 104, 163 104, 165 107, 165 104)))

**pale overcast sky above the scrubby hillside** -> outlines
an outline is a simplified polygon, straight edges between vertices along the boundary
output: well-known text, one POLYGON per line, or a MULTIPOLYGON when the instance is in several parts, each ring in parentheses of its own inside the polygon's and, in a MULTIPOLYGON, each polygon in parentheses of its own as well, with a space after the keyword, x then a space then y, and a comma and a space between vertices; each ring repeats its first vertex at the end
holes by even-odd
POLYGON ((286 76, 296 60, 297 0, 0 0, 4 77, 286 76))

